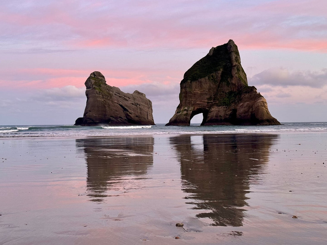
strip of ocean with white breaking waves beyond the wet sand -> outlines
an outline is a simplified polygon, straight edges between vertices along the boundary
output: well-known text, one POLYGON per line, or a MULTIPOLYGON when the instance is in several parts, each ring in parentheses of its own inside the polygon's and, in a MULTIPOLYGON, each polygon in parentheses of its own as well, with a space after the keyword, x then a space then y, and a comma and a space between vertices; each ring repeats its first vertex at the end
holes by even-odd
POLYGON ((282 123, 271 126, 74 126, 1 125, 0 138, 12 137, 107 137, 178 134, 282 133, 327 131, 327 122, 282 123))

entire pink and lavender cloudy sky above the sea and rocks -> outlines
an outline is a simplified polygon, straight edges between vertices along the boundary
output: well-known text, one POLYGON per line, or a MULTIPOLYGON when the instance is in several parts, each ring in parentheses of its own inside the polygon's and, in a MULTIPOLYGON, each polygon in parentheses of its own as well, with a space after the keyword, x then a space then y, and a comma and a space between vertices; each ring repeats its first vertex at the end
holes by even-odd
POLYGON ((167 123, 183 74, 230 39, 273 117, 327 121, 325 0, 0 0, 0 125, 74 124, 94 71, 167 123))

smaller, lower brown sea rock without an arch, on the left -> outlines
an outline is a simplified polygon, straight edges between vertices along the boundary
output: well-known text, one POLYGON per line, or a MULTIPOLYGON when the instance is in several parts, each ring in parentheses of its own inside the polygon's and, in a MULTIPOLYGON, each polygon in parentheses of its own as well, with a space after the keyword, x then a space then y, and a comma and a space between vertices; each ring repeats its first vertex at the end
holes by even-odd
POLYGON ((124 93, 106 84, 100 72, 93 72, 85 81, 84 116, 74 125, 154 125, 152 103, 144 93, 124 93))

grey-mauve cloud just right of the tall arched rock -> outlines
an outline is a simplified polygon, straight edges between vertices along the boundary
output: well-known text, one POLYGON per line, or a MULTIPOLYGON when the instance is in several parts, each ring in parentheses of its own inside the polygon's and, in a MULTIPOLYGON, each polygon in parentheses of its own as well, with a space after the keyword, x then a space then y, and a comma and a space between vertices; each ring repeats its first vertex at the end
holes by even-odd
POLYGON ((254 85, 279 85, 287 86, 307 86, 312 88, 322 88, 327 85, 327 69, 321 71, 295 71, 290 72, 284 68, 274 68, 265 70, 254 75, 250 84, 254 85))

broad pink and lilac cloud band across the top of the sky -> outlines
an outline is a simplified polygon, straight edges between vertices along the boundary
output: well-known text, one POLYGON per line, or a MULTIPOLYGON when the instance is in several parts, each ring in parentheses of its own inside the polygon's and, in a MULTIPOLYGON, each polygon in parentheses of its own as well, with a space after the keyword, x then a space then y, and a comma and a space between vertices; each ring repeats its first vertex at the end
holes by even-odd
POLYGON ((201 1, 68 1, 63 8, 53 1, 24 10, 4 6, 0 18, 5 33, 17 40, 70 49, 209 47, 234 39, 243 48, 327 52, 325 1, 240 2, 230 8, 201 1))

